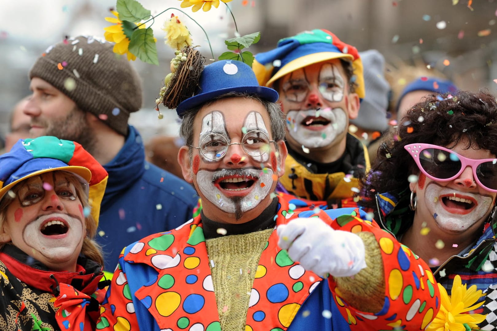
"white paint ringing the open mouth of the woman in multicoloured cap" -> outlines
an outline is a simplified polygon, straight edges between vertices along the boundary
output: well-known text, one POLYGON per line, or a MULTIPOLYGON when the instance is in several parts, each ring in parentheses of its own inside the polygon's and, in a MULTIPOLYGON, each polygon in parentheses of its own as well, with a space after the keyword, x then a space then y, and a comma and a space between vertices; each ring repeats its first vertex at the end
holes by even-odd
POLYGON ((31 247, 33 253, 38 252, 47 260, 60 263, 78 257, 84 236, 82 220, 59 213, 38 218, 26 225, 23 232, 23 240, 31 247), (63 235, 46 236, 41 233, 40 226, 47 218, 54 217, 54 215, 67 222, 67 232, 63 235))

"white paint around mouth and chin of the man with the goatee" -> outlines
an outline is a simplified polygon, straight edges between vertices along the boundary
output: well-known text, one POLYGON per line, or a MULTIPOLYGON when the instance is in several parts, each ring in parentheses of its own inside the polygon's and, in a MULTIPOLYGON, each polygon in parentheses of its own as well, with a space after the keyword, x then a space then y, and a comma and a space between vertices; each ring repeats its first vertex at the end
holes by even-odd
POLYGON ((265 172, 258 170, 257 175, 259 179, 254 181, 250 188, 246 189, 247 194, 245 194, 245 190, 242 190, 237 191, 239 196, 228 197, 225 193, 229 194, 230 192, 219 190, 214 185, 212 178, 215 174, 216 172, 213 171, 199 170, 196 176, 198 188, 207 200, 222 211, 230 214, 246 212, 256 207, 260 201, 267 197, 273 184, 272 169, 267 168, 265 172), (263 187, 261 187, 261 183, 264 184, 263 187))

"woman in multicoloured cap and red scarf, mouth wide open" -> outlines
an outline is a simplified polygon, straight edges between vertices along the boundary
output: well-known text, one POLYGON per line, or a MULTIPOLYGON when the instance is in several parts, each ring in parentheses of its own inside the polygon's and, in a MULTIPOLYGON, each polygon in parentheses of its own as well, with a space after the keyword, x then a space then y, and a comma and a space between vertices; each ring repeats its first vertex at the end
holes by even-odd
POLYGON ((0 330, 95 329, 106 183, 77 142, 21 139, 0 156, 0 330))

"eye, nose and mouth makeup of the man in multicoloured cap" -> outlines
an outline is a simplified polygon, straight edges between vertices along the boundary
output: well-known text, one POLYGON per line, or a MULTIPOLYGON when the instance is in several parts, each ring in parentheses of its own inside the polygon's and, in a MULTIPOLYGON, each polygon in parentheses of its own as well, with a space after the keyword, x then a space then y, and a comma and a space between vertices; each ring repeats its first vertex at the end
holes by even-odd
POLYGON ((282 85, 282 97, 285 100, 283 105, 288 109, 287 129, 300 145, 309 148, 325 147, 345 132, 347 127, 348 115, 344 97, 346 79, 340 74, 337 64, 323 64, 318 74, 313 76, 314 81, 309 78, 307 69, 292 72, 282 85), (318 92, 311 92, 313 84, 317 84, 318 92), (319 93, 320 96, 310 93, 319 93), (310 102, 312 98, 322 99, 323 107, 306 109, 313 104, 310 102))

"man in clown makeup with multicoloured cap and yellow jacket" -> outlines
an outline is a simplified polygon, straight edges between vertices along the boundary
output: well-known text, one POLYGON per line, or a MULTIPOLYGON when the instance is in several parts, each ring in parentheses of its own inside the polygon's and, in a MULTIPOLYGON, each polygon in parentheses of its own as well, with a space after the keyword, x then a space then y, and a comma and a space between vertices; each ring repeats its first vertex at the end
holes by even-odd
POLYGON ((357 50, 330 31, 316 29, 257 54, 252 68, 261 85, 278 91, 285 113, 289 156, 280 180, 284 190, 340 206, 369 169, 366 147, 347 133, 364 97, 357 50), (274 66, 278 62, 281 66, 274 66))

